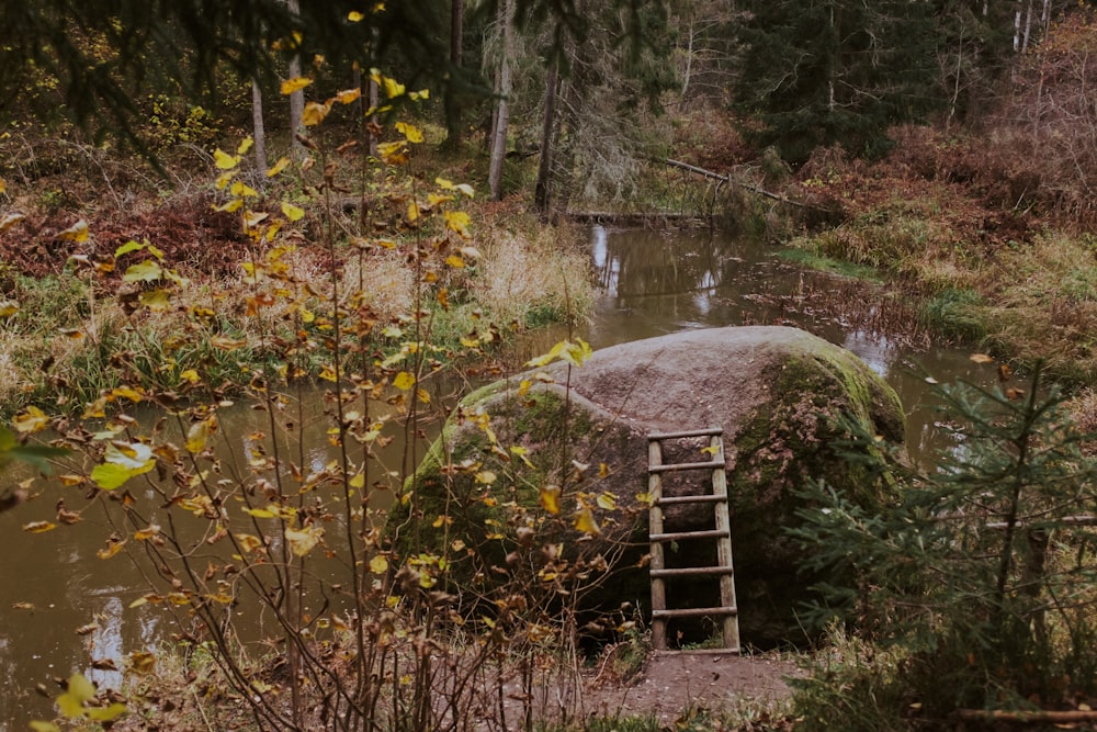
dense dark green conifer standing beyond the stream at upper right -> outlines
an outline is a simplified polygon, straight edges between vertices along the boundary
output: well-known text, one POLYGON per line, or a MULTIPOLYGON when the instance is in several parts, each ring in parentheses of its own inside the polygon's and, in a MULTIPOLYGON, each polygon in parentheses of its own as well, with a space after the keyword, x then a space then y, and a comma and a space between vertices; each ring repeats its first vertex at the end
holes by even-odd
POLYGON ((873 157, 887 127, 936 102, 930 7, 903 0, 749 3, 737 105, 759 145, 793 162, 839 144, 873 157))

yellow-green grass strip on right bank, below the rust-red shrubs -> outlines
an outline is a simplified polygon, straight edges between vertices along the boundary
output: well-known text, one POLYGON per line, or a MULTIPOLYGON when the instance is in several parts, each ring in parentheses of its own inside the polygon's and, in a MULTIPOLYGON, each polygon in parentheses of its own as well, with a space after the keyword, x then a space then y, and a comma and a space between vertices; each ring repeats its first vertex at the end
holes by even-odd
POLYGON ((1097 379, 1093 237, 991 238, 971 205, 939 185, 892 192, 859 204, 859 213, 837 227, 796 237, 792 245, 803 254, 790 257, 853 277, 882 272, 918 303, 919 322, 941 338, 984 348, 1021 368, 1043 361, 1047 373, 1067 385, 1092 383, 1097 379))

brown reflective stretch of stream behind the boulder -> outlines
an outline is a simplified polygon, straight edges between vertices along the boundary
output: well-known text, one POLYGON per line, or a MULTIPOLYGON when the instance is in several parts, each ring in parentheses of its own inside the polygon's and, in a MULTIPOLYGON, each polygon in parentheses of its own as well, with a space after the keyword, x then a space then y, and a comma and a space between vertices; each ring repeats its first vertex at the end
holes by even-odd
POLYGON ((950 447, 936 426, 925 376, 979 384, 994 378, 968 350, 931 346, 915 313, 885 289, 805 270, 762 241, 598 226, 591 252, 601 285, 588 334, 595 348, 689 328, 803 328, 857 353, 895 388, 916 461, 950 447))

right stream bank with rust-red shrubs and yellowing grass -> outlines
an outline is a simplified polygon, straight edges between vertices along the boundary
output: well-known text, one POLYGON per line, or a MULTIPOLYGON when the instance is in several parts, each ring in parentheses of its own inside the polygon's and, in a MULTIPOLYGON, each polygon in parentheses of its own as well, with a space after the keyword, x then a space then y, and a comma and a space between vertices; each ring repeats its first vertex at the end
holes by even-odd
MULTIPOLYGON (((792 236, 811 255, 870 267, 915 300, 943 342, 965 342, 1021 369, 1043 362, 1071 387, 1097 380, 1097 238, 1041 207, 1005 199, 1021 183, 963 180, 974 138, 898 131, 877 164, 821 153, 790 195, 838 223, 792 236)), ((970 177, 972 173, 969 172, 970 177)))

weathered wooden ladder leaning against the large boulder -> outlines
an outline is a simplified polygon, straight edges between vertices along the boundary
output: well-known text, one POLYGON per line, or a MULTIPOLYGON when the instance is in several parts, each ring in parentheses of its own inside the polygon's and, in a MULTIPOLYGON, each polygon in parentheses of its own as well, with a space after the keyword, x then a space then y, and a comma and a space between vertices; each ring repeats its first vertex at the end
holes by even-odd
POLYGON ((647 492, 651 499, 649 534, 652 542, 652 643, 657 651, 667 650, 667 621, 672 618, 723 618, 724 652, 739 652, 739 618, 735 605, 735 578, 732 568, 732 532, 727 511, 727 477, 724 474, 724 430, 710 427, 685 432, 658 432, 647 436, 647 492), (663 441, 690 437, 709 437, 712 460, 704 462, 663 462, 663 441), (664 497, 663 474, 670 471, 711 470, 712 493, 664 497), (681 504, 711 504, 715 513, 715 529, 667 533, 663 527, 663 508, 681 504), (687 539, 715 539, 716 565, 667 568, 664 543, 687 539), (667 608, 666 579, 670 577, 713 576, 720 578, 720 607, 667 608))

